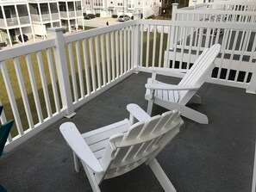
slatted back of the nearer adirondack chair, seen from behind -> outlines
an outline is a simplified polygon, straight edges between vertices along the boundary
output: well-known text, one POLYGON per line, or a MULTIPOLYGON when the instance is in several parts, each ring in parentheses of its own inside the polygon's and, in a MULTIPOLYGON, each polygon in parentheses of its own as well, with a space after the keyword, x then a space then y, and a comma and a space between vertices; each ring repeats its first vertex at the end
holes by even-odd
POLYGON ((109 146, 101 159, 104 162, 103 166, 106 166, 104 178, 117 177, 134 170, 148 159, 155 158, 164 147, 162 144, 167 144, 172 139, 172 137, 164 137, 165 134, 176 130, 182 123, 177 110, 168 111, 163 115, 152 117, 149 121, 135 123, 127 133, 110 137, 109 146), (163 138, 165 141, 162 141, 163 138), (106 164, 108 160, 109 163, 106 164))

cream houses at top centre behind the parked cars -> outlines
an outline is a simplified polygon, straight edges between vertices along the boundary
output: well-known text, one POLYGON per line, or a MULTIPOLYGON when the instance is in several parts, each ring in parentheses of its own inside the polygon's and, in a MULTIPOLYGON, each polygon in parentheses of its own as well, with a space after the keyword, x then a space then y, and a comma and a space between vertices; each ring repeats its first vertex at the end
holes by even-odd
POLYGON ((133 15, 142 13, 144 17, 159 15, 159 0, 84 0, 86 14, 99 13, 101 17, 111 15, 133 15))

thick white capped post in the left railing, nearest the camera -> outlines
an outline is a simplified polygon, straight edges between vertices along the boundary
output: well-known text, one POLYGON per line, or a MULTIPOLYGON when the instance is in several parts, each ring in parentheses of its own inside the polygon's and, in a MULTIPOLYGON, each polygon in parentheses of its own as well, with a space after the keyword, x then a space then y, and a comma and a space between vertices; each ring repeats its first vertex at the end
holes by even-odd
POLYGON ((66 64, 66 50, 63 38, 64 29, 65 28, 48 28, 56 43, 56 45, 53 47, 53 51, 59 79, 61 101, 63 107, 66 108, 66 117, 71 118, 73 115, 75 115, 75 113, 74 106, 72 104, 72 91, 66 64))

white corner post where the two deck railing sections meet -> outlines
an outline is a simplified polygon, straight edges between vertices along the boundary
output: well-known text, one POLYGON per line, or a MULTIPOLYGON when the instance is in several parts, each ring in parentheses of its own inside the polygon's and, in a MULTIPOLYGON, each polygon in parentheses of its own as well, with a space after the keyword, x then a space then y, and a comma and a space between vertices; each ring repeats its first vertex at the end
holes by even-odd
MULTIPOLYGON (((140 13, 134 13, 134 20, 140 20, 140 13)), ((139 22, 138 22, 139 23, 139 22)), ((136 72, 138 72, 138 66, 139 66, 139 59, 140 59, 140 26, 137 23, 136 26, 134 26, 133 31, 133 65, 136 69, 136 72)))

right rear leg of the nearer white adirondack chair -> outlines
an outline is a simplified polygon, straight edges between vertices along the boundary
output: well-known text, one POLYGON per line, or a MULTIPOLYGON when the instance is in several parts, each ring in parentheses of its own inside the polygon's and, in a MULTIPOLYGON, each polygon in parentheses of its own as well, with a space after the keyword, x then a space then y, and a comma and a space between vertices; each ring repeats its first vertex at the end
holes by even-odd
POLYGON ((166 176, 165 171, 161 168, 157 159, 154 158, 148 165, 150 166, 151 170, 153 170, 155 177, 157 177, 163 189, 165 189, 165 192, 177 192, 169 178, 166 176))

